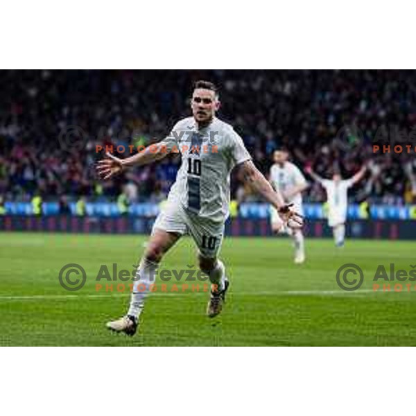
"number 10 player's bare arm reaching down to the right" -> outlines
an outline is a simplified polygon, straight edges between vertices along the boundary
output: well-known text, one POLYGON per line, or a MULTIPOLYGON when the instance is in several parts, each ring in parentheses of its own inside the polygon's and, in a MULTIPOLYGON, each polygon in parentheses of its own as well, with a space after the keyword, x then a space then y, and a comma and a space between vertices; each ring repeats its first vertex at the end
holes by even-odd
POLYGON ((302 216, 297 214, 291 208, 291 205, 286 205, 279 190, 274 190, 266 177, 254 166, 251 160, 247 160, 241 164, 243 169, 243 177, 247 184, 259 195, 263 196, 270 204, 273 205, 281 215, 284 221, 289 219, 294 220, 297 224, 302 225, 302 216))

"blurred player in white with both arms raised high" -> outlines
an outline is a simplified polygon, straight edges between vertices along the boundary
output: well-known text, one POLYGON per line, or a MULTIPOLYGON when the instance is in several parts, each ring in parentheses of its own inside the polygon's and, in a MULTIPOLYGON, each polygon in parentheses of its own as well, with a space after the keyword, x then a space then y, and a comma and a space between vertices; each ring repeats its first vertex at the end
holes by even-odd
POLYGON ((305 171, 319 182, 327 192, 328 225, 332 228, 335 245, 343 247, 348 209, 348 189, 364 177, 366 167, 363 166, 353 177, 346 180, 343 180, 339 173, 334 173, 332 180, 329 180, 318 176, 310 167, 306 168, 305 171))

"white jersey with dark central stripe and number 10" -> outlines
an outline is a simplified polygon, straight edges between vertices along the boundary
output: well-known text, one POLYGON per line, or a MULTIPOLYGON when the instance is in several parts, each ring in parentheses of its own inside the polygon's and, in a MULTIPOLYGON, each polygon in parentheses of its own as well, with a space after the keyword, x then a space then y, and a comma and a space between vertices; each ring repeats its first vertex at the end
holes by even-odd
POLYGON ((216 117, 199 130, 195 119, 187 117, 161 143, 182 155, 168 200, 200 217, 224 222, 229 215, 229 175, 236 164, 251 159, 241 137, 216 117))

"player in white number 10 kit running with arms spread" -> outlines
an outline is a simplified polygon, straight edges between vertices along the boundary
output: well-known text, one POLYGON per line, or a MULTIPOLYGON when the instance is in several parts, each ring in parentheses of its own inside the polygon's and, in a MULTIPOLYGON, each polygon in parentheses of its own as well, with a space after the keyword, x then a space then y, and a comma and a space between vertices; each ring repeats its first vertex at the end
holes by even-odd
POLYGON ((139 315, 158 263, 184 234, 190 234, 198 246, 200 269, 209 276, 212 284, 207 315, 214 317, 220 313, 229 281, 218 253, 229 214, 229 174, 234 166, 241 166, 244 180, 279 211, 281 227, 288 220, 302 224, 302 217, 286 204, 279 191, 274 191, 254 166, 241 137, 231 125, 216 118, 219 107, 215 85, 198 81, 191 98, 193 116, 178 121, 171 135, 126 159, 107 154, 108 159, 98 162, 98 174, 109 179, 124 168, 155 162, 171 152, 182 155, 175 184, 166 206, 155 220, 137 269, 130 308, 119 320, 107 322, 107 328, 113 331, 128 335, 137 331, 139 315))

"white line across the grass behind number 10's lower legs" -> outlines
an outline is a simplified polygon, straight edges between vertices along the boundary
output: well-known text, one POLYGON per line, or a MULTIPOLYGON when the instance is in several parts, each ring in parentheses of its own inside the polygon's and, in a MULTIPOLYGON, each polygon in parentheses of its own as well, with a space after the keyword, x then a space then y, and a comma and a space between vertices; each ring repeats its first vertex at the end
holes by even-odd
MULTIPOLYGON (((394 291, 390 292, 383 292, 383 291, 373 291, 372 289, 358 289, 358 291, 347 292, 347 291, 277 291, 277 292, 236 292, 235 295, 241 296, 284 296, 284 295, 359 295, 360 293, 396 293, 394 291)), ((400 293, 400 292, 397 292, 400 293)), ((407 291, 402 291, 401 293, 408 293, 407 291)), ((110 298, 110 297, 120 297, 120 296, 127 296, 129 293, 94 293, 91 295, 28 295, 28 296, 0 296, 0 301, 7 301, 7 300, 64 300, 64 299, 102 299, 102 298, 110 298)), ((150 293, 149 296, 178 296, 178 295, 189 295, 189 293, 182 293, 182 292, 160 292, 160 293, 150 293)), ((192 295, 207 295, 207 292, 193 292, 192 295)))

